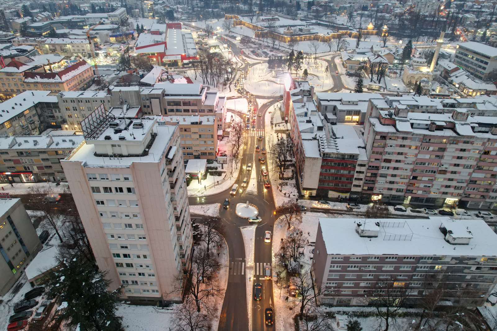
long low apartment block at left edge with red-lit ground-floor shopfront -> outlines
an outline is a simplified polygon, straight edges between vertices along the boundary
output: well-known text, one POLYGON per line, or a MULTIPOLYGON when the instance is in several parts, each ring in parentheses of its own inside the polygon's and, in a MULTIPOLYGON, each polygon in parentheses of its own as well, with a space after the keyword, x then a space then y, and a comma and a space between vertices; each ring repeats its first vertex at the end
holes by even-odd
POLYGON ((0 182, 66 180, 60 161, 83 140, 82 135, 0 136, 0 182))

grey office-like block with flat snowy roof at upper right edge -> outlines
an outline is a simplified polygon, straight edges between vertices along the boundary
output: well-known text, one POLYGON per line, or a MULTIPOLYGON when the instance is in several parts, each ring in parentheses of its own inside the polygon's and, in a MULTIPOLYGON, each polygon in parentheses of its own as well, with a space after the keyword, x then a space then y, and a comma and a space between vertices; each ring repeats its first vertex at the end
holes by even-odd
POLYGON ((457 45, 454 63, 471 75, 486 80, 497 68, 497 48, 476 41, 457 45))

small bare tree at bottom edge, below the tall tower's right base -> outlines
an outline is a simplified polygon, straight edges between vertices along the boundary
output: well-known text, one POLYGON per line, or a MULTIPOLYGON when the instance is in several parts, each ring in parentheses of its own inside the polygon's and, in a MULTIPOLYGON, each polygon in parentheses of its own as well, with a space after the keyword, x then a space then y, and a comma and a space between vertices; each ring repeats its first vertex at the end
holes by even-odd
POLYGON ((207 312, 198 312, 195 300, 187 296, 179 309, 174 312, 172 319, 175 331, 209 331, 211 317, 207 312))

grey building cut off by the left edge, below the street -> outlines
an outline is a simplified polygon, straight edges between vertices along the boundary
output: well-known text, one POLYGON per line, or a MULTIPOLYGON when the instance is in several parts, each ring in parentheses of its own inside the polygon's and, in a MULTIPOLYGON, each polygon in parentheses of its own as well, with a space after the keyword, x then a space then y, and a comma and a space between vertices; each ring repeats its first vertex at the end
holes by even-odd
POLYGON ((21 199, 0 199, 0 295, 14 285, 42 247, 21 199))

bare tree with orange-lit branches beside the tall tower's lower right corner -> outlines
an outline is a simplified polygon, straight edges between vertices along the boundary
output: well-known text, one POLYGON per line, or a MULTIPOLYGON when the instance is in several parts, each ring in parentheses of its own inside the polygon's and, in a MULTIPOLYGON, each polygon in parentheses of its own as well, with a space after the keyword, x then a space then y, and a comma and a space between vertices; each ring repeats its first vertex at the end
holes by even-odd
POLYGON ((207 248, 198 247, 191 257, 191 268, 177 277, 175 292, 191 296, 197 307, 197 312, 203 307, 208 313, 212 309, 209 305, 210 298, 219 297, 222 290, 217 283, 220 264, 209 255, 207 248))

